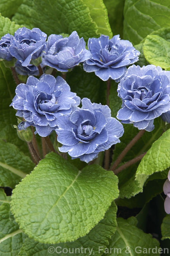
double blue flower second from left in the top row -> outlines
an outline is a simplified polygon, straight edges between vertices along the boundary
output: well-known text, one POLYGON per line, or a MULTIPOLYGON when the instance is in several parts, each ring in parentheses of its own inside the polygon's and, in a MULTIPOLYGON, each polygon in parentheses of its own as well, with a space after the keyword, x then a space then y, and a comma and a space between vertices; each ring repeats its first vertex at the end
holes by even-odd
POLYGON ((19 28, 14 33, 9 47, 10 54, 14 56, 23 67, 27 67, 31 59, 37 59, 46 47, 47 35, 39 28, 19 28))

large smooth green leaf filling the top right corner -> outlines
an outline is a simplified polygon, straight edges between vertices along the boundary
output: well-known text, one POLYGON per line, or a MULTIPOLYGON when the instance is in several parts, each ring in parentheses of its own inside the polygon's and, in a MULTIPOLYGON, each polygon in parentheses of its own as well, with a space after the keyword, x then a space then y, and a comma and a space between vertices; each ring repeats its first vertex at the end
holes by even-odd
POLYGON ((138 44, 152 31, 170 26, 170 3, 162 0, 125 0, 124 39, 138 44))

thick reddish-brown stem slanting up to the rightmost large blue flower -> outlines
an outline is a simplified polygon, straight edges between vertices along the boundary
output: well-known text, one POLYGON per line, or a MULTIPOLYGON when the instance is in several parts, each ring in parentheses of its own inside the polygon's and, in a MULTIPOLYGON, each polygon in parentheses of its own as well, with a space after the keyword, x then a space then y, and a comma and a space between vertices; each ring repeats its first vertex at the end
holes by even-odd
POLYGON ((128 153, 131 147, 142 137, 144 132, 145 130, 140 130, 138 134, 136 134, 136 136, 130 141, 130 143, 124 148, 122 153, 118 156, 110 170, 115 171, 116 167, 119 165, 123 157, 128 153))

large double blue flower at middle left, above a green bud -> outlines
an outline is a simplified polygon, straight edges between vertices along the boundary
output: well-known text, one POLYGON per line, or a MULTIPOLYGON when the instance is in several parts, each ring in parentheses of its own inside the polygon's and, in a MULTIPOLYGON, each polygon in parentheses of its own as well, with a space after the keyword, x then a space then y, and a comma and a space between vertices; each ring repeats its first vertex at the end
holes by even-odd
POLYGON ((19 84, 10 106, 17 109, 17 116, 26 120, 24 125, 35 126, 36 132, 48 136, 57 127, 57 117, 70 114, 72 105, 79 105, 80 98, 70 91, 66 81, 58 76, 43 74, 40 79, 29 76, 26 84, 19 84))

